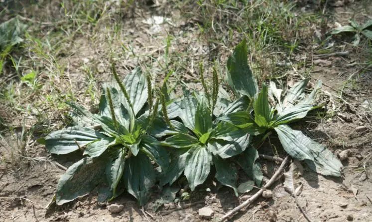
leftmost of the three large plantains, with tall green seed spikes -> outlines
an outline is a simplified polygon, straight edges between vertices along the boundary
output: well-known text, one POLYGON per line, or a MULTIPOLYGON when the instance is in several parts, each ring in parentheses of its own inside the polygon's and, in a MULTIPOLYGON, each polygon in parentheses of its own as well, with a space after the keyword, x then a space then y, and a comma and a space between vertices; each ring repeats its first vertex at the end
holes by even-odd
POLYGON ((113 199, 125 189, 140 205, 146 203, 156 182, 151 160, 162 169, 168 154, 147 133, 157 115, 159 101, 153 104, 151 82, 140 68, 120 81, 104 84, 99 113, 69 103, 75 126, 50 133, 45 138, 49 152, 67 154, 83 151, 83 158, 71 165, 58 182, 56 203, 62 205, 98 187, 99 201, 113 199), (148 123, 144 125, 143 123, 148 123))

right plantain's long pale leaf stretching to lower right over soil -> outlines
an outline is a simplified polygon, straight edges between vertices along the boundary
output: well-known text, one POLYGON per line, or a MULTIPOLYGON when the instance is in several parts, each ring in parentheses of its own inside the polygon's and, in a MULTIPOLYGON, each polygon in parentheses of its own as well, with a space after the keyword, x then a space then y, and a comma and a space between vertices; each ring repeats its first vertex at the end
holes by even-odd
POLYGON ((284 150, 293 158, 305 160, 307 165, 317 173, 341 176, 342 163, 328 148, 285 124, 274 129, 284 150))

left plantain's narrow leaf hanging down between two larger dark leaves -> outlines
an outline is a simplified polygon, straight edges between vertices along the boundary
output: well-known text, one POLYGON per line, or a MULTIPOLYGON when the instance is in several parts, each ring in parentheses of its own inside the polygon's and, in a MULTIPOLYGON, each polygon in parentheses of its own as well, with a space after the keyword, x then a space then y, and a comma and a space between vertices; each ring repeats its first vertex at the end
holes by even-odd
MULTIPOLYGON (((124 163, 125 163, 125 152, 124 148, 120 148, 117 152, 117 156, 112 161, 106 165, 106 176, 109 181, 110 190, 112 191, 112 198, 120 195, 121 192, 117 192, 117 187, 122 179, 124 172, 124 163)), ((122 189, 123 191, 123 189, 122 189)))

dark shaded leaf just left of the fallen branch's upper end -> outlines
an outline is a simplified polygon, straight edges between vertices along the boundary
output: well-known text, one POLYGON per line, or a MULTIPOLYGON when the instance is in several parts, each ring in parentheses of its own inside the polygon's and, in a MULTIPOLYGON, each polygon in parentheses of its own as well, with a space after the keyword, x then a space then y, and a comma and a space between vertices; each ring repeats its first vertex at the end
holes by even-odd
POLYGON ((247 175, 254 180, 257 186, 261 185, 263 178, 261 164, 255 162, 258 159, 257 149, 249 146, 242 155, 239 156, 239 163, 247 175))

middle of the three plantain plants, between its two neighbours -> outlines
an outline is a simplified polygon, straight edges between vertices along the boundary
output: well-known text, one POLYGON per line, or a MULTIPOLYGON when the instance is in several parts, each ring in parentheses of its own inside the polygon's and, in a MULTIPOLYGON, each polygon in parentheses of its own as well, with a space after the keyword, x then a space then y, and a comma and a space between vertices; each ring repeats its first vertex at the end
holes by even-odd
MULTIPOLYGON (((159 122, 153 131, 155 136, 165 138, 164 146, 174 151, 168 170, 160 178, 160 185, 172 184, 184 173, 193 191, 204 183, 214 166, 216 179, 233 188, 238 196, 238 166, 231 157, 245 152, 251 137, 247 131, 220 121, 220 118, 245 110, 248 97, 243 95, 232 102, 228 93, 219 87, 216 70, 213 72, 212 92, 206 87, 202 68, 201 81, 204 93, 184 89, 183 98, 162 109, 163 122, 159 122)), ((247 152, 251 151, 256 152, 251 149, 247 152)), ((250 161, 244 167, 256 169, 256 156, 248 158, 250 161)), ((262 175, 259 170, 255 172, 252 176, 259 184, 262 175)))

